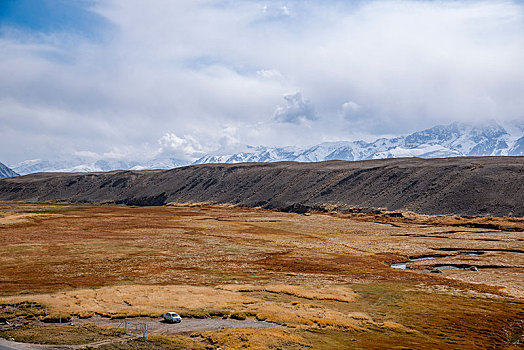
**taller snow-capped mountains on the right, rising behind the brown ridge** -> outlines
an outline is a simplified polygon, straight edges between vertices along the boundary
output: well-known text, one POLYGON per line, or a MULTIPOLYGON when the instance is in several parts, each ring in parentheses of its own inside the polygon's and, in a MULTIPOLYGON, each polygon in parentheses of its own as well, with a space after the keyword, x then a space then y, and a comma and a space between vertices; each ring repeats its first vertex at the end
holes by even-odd
POLYGON ((374 142, 324 142, 305 149, 251 147, 234 154, 207 155, 195 164, 524 155, 522 134, 521 131, 520 135, 510 135, 494 122, 485 125, 453 123, 374 142))

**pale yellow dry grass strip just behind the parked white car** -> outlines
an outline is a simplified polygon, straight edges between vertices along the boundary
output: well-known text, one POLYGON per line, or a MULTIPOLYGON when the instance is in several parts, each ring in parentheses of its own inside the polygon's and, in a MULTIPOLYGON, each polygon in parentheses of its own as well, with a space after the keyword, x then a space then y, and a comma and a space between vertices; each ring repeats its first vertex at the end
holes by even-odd
MULTIPOLYGON (((99 289, 81 289, 53 294, 11 296, 3 299, 4 303, 14 304, 21 301, 46 305, 51 316, 77 315, 90 317, 94 314, 110 317, 159 316, 166 310, 189 312, 223 311, 230 314, 247 313, 258 319, 283 325, 338 327, 347 330, 363 330, 375 323, 369 315, 352 312, 341 313, 319 304, 304 302, 289 303, 286 300, 267 301, 263 298, 246 296, 245 291, 257 290, 246 286, 197 287, 197 286, 138 286, 122 285, 99 289)), ((313 289, 299 286, 267 286, 271 293, 293 295, 305 299, 348 300, 348 290, 341 290, 313 298, 313 289), (293 291, 293 293, 291 293, 293 291)), ((264 290, 264 289, 261 289, 264 290)))

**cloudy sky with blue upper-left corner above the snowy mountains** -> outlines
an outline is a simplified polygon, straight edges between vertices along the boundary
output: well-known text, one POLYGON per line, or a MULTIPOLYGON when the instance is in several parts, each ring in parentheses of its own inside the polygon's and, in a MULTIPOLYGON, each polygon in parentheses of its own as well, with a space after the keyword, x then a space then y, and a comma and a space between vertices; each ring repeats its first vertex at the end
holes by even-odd
POLYGON ((524 121, 524 2, 0 0, 0 162, 524 121))

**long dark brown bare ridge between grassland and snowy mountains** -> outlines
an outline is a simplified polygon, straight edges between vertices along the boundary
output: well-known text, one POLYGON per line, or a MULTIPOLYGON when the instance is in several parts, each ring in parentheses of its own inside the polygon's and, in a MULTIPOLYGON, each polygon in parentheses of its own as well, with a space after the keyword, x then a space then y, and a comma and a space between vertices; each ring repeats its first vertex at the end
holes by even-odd
POLYGON ((172 170, 38 173, 0 180, 0 200, 129 205, 325 204, 423 214, 524 216, 524 157, 204 164, 172 170))

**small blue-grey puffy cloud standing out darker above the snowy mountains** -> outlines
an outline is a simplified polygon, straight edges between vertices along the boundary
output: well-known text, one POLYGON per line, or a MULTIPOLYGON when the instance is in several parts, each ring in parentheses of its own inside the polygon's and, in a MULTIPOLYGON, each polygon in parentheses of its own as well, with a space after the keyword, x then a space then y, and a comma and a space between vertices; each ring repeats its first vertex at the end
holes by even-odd
POLYGON ((286 104, 277 106, 273 118, 281 123, 303 123, 307 120, 316 120, 315 107, 308 99, 304 99, 300 92, 284 96, 286 104))

